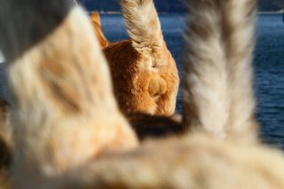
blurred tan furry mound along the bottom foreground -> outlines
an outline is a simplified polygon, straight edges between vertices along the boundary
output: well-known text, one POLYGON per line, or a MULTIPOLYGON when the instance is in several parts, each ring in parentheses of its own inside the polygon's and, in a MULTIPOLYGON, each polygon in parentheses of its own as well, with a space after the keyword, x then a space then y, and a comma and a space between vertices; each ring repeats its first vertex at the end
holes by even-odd
POLYGON ((283 188, 284 157, 208 136, 163 140, 76 169, 61 188, 283 188))

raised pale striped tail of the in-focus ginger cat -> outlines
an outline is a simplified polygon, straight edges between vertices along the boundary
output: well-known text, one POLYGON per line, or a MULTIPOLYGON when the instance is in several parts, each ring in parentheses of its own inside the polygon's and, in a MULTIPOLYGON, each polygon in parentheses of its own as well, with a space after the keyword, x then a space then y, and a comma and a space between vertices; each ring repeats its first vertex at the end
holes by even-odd
POLYGON ((153 0, 122 0, 121 2, 133 47, 138 51, 161 47, 164 43, 161 23, 153 0))

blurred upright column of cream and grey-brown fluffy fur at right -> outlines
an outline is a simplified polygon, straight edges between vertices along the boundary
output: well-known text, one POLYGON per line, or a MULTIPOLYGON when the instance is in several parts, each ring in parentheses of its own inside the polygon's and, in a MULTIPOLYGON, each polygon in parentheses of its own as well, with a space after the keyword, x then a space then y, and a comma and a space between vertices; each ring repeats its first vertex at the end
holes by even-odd
POLYGON ((256 1, 200 0, 188 6, 185 124, 217 138, 255 141, 256 1))

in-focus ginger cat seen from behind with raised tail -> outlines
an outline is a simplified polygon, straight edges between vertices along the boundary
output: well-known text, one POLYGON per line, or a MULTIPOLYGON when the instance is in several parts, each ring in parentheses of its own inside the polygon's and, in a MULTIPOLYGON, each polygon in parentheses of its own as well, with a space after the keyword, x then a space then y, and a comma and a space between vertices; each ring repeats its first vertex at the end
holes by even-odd
POLYGON ((179 85, 177 64, 163 39, 154 3, 131 0, 121 3, 130 40, 108 42, 99 13, 91 14, 108 60, 118 104, 125 114, 172 115, 179 85))

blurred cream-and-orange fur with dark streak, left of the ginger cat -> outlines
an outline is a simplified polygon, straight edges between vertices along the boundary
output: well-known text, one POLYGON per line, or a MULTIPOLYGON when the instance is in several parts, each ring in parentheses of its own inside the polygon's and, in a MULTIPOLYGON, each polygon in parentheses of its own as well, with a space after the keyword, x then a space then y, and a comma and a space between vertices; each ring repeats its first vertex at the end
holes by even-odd
MULTIPOLYGON (((12 24, 17 23, 7 25, 12 24)), ((114 100, 106 60, 81 8, 20 57, 10 58, 14 187, 41 188, 44 179, 138 145, 114 100)))

